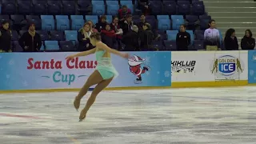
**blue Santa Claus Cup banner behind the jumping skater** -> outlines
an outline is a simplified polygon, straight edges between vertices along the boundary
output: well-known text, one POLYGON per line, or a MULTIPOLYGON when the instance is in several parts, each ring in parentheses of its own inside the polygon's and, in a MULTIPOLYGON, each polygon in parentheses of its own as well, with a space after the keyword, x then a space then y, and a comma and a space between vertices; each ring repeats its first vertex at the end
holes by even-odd
MULTIPOLYGON (((66 60, 74 53, 0 54, 0 90, 80 88, 95 70, 95 55, 66 60)), ((134 52, 130 58, 114 54, 119 76, 109 87, 170 86, 170 52, 134 52)))

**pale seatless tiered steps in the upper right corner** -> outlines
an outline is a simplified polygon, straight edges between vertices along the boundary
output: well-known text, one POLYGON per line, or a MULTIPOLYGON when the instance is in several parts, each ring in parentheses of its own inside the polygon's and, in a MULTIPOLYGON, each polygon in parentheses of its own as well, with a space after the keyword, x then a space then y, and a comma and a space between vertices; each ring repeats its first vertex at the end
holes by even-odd
MULTIPOLYGON (((203 0, 206 12, 216 21, 225 38, 226 30, 234 28, 240 44, 246 29, 256 33, 256 2, 253 0, 203 0)), ((255 35, 254 35, 255 38, 255 35)))

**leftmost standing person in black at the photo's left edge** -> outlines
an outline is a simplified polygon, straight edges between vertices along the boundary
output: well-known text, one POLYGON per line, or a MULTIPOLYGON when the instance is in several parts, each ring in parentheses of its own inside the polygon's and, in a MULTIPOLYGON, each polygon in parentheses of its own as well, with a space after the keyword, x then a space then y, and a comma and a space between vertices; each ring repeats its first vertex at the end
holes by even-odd
POLYGON ((0 28, 0 53, 12 52, 11 50, 11 30, 9 30, 10 23, 8 21, 2 22, 0 28))

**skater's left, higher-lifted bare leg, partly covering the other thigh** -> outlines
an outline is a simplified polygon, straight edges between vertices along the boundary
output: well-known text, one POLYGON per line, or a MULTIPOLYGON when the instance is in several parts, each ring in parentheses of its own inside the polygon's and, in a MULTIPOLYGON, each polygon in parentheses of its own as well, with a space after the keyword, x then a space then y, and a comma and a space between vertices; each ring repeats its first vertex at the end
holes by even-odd
POLYGON ((79 91, 78 96, 74 100, 74 107, 78 110, 80 106, 80 100, 84 95, 86 95, 90 86, 94 86, 99 82, 102 82, 103 78, 99 74, 98 70, 95 70, 93 74, 90 74, 90 77, 87 79, 86 83, 82 86, 82 89, 79 91))

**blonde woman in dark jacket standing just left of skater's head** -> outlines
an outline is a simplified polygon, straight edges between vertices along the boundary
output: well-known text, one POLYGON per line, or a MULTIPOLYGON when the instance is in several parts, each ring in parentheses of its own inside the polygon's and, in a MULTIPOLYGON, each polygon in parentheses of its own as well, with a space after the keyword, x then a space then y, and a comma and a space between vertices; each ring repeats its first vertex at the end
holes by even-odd
POLYGON ((90 50, 93 48, 92 44, 90 43, 90 23, 86 22, 84 26, 78 30, 78 50, 85 51, 90 50))

